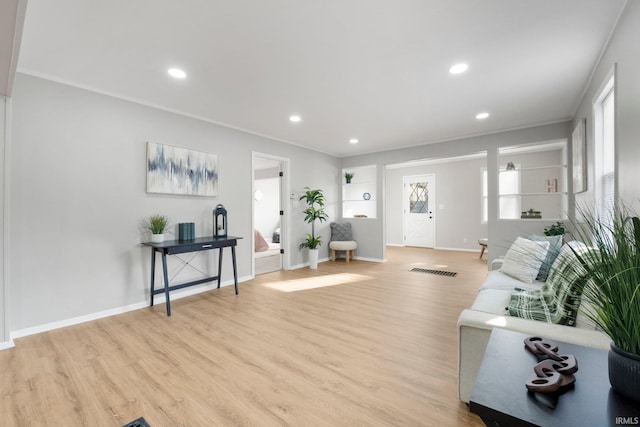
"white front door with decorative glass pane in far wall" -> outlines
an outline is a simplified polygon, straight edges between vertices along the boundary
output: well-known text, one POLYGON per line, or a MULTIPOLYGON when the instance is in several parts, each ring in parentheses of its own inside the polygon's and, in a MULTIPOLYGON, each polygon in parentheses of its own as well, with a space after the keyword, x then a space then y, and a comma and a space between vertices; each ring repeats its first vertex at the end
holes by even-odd
POLYGON ((435 247, 436 176, 405 176, 403 187, 404 244, 435 247))

